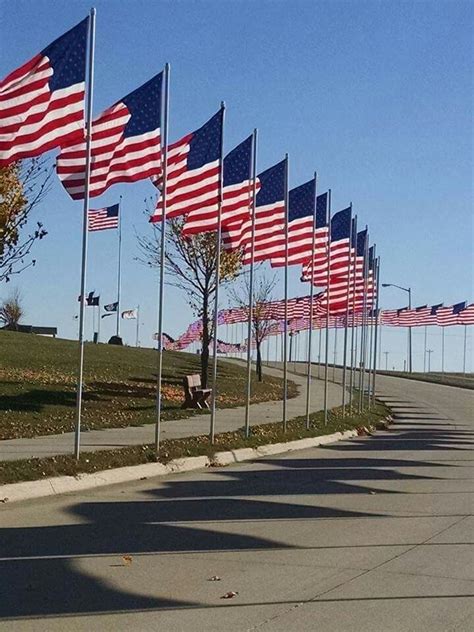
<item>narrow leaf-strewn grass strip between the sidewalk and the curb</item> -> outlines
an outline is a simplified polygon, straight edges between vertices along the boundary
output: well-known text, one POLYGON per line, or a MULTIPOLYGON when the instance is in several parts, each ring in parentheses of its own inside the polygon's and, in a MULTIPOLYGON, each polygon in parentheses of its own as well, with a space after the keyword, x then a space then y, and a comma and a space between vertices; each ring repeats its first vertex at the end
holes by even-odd
MULTIPOLYGON (((375 407, 370 411, 365 410, 361 415, 354 414, 343 417, 342 409, 340 407, 334 408, 330 411, 327 424, 324 424, 322 411, 313 413, 310 417, 309 430, 305 428, 305 418, 296 417, 288 422, 286 433, 283 432, 281 422, 273 422, 253 426, 252 434, 248 439, 245 438, 243 429, 220 433, 216 435, 213 445, 209 443, 208 435, 166 439, 161 444, 159 459, 156 458, 152 445, 137 445, 117 450, 83 452, 78 461, 73 455, 4 461, 0 463, 0 485, 25 481, 45 481, 45 479, 58 476, 78 477, 80 474, 98 474, 101 471, 157 461, 161 464, 167 464, 170 461, 186 457, 208 457, 212 462, 217 452, 287 443, 347 430, 365 428, 364 432, 367 432, 367 429, 371 431, 377 427, 385 427, 386 419, 389 416, 390 409, 382 402, 377 401, 375 407)), ((0 501, 2 500, 1 496, 0 492, 0 501)))

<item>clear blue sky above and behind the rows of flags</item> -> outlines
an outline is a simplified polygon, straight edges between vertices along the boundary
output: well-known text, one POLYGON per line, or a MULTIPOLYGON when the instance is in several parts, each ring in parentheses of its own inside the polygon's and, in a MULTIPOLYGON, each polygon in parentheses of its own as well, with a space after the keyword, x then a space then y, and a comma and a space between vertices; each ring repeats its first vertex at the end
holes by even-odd
MULTIPOLYGON (((411 285, 416 305, 472 300, 471 2, 109 0, 96 7, 96 114, 169 61, 171 140, 207 120, 224 99, 226 151, 258 127, 261 169, 285 152, 291 186, 317 169, 320 190, 332 188, 333 210, 352 201, 359 222, 369 225, 384 281, 411 285)), ((81 0, 3 0, 0 75, 89 8, 81 0)), ((143 200, 153 187, 147 181, 115 186, 93 205, 114 203, 120 194, 123 308, 140 304, 140 337, 149 345, 157 275, 134 257, 135 230, 149 230, 143 200)), ((23 293, 28 322, 57 325, 61 336, 74 337, 81 204, 55 181, 35 215, 49 235, 35 251, 36 268, 12 285, 23 293)), ((115 299, 115 257, 114 232, 92 234, 88 289, 104 302, 115 299)), ((307 291, 298 277, 292 270, 293 295, 307 291)), ((403 293, 383 291, 383 307, 404 303, 403 293)), ((185 297, 168 290, 165 330, 179 334, 191 319, 185 297)), ((110 321, 102 321, 106 336, 110 321)), ((123 333, 133 342, 133 321, 123 333)), ((459 367, 461 333, 447 332, 451 370, 459 367)), ((403 332, 391 332, 384 349, 401 359, 404 345, 403 332)))

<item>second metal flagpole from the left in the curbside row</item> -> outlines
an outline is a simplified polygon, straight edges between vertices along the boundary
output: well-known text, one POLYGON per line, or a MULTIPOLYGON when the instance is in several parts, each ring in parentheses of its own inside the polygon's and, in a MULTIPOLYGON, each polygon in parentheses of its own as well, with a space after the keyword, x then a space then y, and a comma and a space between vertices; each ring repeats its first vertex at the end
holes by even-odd
POLYGON ((161 434, 161 382, 163 376, 163 304, 165 296, 165 248, 166 248, 166 202, 168 188, 168 130, 169 130, 169 105, 170 105, 170 65, 165 64, 164 69, 164 99, 162 103, 163 136, 161 145, 161 157, 163 160, 163 187, 161 192, 162 216, 160 234, 160 284, 158 290, 158 375, 156 381, 156 423, 155 423, 155 452, 160 451, 161 434))

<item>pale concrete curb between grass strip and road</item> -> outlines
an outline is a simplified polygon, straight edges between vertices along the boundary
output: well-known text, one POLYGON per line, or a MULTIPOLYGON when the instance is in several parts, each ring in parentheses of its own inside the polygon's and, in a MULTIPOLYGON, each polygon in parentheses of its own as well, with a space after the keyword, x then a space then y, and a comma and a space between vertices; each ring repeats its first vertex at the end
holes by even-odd
POLYGON ((113 470, 103 470, 91 474, 56 476, 39 481, 9 483, 0 486, 0 500, 10 504, 21 500, 81 492, 106 485, 129 483, 156 476, 190 472, 206 467, 222 467, 233 463, 252 461, 272 454, 283 454, 284 452, 305 450, 328 443, 336 443, 337 441, 357 437, 358 434, 357 430, 346 430, 345 432, 335 432, 334 434, 322 435, 320 437, 298 439, 296 441, 288 441, 287 443, 273 443, 257 448, 240 448, 238 450, 216 452, 211 459, 207 456, 192 456, 183 459, 175 459, 166 465, 163 463, 144 463, 113 470))

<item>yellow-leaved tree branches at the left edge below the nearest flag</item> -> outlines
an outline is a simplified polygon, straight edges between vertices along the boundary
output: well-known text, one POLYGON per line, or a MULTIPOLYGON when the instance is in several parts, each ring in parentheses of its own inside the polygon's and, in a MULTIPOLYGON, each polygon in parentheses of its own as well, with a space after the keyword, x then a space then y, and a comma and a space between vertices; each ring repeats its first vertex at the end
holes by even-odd
POLYGON ((34 266, 30 259, 36 241, 47 232, 41 222, 24 234, 35 206, 51 186, 53 168, 44 158, 23 160, 0 168, 0 282, 34 266))

